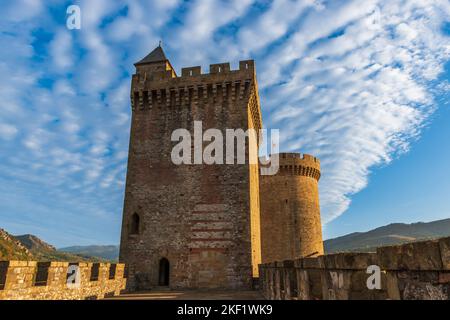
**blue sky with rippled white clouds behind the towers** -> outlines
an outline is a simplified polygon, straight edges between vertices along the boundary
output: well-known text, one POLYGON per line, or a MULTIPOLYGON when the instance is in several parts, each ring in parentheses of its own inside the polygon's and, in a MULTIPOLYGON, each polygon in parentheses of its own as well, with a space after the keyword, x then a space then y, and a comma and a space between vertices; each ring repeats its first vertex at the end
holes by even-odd
POLYGON ((450 217, 446 0, 0 0, 0 227, 118 243, 133 63, 256 60, 264 125, 321 159, 325 237, 450 217), (81 8, 81 30, 66 8, 81 8))

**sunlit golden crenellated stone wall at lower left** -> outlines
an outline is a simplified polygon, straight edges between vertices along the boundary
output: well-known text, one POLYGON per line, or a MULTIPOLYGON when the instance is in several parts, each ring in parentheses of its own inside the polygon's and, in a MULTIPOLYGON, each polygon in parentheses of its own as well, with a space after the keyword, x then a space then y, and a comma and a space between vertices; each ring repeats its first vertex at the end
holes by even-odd
POLYGON ((125 289, 123 264, 77 265, 80 285, 70 288, 69 262, 0 261, 0 300, 102 299, 119 295, 125 289))

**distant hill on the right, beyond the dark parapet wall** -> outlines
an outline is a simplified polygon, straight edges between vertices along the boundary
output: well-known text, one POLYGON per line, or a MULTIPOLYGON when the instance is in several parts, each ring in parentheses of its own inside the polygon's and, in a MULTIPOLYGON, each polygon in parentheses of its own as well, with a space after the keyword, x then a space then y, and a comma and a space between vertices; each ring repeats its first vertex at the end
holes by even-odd
POLYGON ((355 232, 324 241, 326 253, 375 251, 377 247, 450 236, 450 219, 433 222, 392 223, 368 232, 355 232))

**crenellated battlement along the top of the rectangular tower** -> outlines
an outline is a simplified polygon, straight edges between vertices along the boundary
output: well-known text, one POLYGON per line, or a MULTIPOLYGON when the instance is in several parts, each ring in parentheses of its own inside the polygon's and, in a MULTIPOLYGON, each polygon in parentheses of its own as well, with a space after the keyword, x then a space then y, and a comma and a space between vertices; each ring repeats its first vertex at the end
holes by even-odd
POLYGON ((241 106, 250 107, 254 126, 262 127, 253 60, 240 61, 238 70, 231 70, 229 63, 212 64, 208 74, 202 74, 200 66, 183 68, 180 77, 168 61, 137 65, 130 98, 133 112, 143 113, 191 111, 218 104, 232 110, 244 103, 241 106))

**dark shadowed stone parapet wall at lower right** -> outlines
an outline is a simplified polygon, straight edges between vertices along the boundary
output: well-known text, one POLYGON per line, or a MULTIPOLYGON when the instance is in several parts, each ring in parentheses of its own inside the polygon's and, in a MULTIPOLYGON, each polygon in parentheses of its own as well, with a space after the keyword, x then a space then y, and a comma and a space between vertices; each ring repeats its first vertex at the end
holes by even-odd
POLYGON ((262 264, 260 288, 278 300, 449 300, 450 238, 262 264), (370 265, 380 289, 367 287, 370 265))

